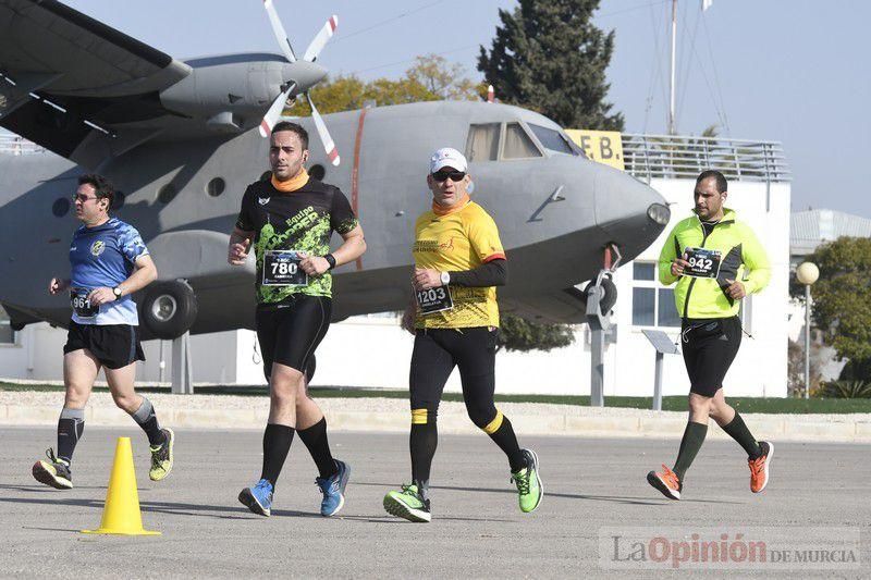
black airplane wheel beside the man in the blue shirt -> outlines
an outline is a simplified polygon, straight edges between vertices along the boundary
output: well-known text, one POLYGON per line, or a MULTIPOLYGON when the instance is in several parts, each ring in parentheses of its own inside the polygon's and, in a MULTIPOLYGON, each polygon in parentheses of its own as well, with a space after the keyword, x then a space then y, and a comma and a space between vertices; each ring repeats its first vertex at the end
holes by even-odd
POLYGON ((171 341, 191 330, 197 319, 197 297, 185 282, 158 282, 145 295, 143 324, 157 338, 171 341))

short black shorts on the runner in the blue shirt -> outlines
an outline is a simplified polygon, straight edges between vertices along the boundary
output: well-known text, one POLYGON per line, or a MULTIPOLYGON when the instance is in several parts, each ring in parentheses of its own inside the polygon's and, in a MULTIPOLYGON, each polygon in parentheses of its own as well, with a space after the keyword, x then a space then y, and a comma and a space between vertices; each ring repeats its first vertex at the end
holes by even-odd
POLYGON ((84 348, 109 369, 122 369, 145 360, 139 326, 132 324, 79 324, 70 321, 63 354, 84 348))

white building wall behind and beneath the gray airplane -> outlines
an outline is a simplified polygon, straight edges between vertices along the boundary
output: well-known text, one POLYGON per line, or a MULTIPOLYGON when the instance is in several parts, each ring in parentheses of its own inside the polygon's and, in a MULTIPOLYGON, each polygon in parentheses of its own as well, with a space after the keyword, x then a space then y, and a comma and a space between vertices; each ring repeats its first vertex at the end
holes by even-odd
MULTIPOLYGON (((637 258, 652 263, 671 227, 690 214, 692 181, 653 181, 651 184, 670 202, 672 223, 653 246, 637 258)), ((772 262, 768 288, 751 298, 745 313, 752 338, 745 336, 741 349, 726 377, 727 395, 785 396, 788 335, 789 276, 789 185, 733 183, 728 207, 738 212, 757 233, 772 262)), ((511 259, 511 257, 508 257, 511 259)), ((650 396, 653 392, 654 349, 633 324, 633 287, 660 288, 657 282, 634 281, 633 263, 614 276, 618 300, 614 309, 617 343, 605 350, 605 396, 650 396)), ((675 342, 676 326, 660 328, 675 342)), ((586 395, 590 392, 589 331, 576 328, 574 345, 550 353, 500 353, 496 356, 496 388, 500 393, 586 395)), ((61 353, 65 332, 47 324, 27 326, 19 333, 19 346, 0 347, 0 377, 37 380, 62 378, 61 353)), ((333 324, 318 348, 315 385, 407 388, 408 362, 414 338, 400 329, 395 318, 356 317, 333 324)), ((138 379, 170 380, 171 343, 150 341, 144 345, 147 362, 138 379)), ((262 366, 250 331, 231 331, 192 337, 195 382, 262 384, 262 366)), ((667 355, 663 372, 665 395, 686 394, 689 383, 682 357, 667 355)), ((456 372, 446 390, 459 392, 456 372)))

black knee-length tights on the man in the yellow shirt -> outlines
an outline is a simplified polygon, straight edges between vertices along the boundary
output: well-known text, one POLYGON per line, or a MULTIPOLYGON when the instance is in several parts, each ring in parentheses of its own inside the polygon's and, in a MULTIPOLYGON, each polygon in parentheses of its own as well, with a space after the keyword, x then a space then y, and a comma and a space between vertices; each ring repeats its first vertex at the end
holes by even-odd
POLYGON ((409 377, 413 416, 427 409, 434 422, 444 384, 458 367, 469 418, 481 429, 493 421, 498 336, 499 329, 488 326, 417 330, 409 377))

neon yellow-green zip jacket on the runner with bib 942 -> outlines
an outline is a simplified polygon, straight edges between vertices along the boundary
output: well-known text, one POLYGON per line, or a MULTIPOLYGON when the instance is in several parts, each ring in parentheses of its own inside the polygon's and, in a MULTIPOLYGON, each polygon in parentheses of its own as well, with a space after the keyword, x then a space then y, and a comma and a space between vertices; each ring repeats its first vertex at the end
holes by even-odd
POLYGON ((747 294, 764 288, 771 279, 771 264, 752 230, 738 221, 735 211, 723 208, 723 219, 706 235, 698 215, 682 220, 665 239, 660 254, 660 282, 674 291, 677 313, 683 319, 727 318, 738 313, 739 300, 726 295, 736 280, 747 294), (720 273, 713 277, 673 276, 672 261, 686 248, 717 249, 722 252, 720 273))

